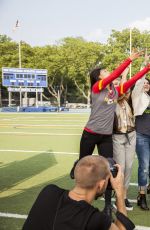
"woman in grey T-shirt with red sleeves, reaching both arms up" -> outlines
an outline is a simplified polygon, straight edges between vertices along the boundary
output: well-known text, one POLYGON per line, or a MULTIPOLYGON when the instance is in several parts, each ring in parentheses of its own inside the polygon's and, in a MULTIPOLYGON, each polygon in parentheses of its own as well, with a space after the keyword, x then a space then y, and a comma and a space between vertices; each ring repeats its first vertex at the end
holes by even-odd
MULTIPOLYGON (((79 159, 91 155, 95 146, 97 146, 100 155, 106 158, 113 157, 112 131, 118 96, 132 87, 136 80, 150 70, 150 67, 145 67, 130 80, 116 88, 112 82, 120 76, 132 60, 139 56, 140 53, 133 53, 112 73, 103 68, 96 68, 90 73, 91 114, 81 137, 79 159)), ((70 172, 71 178, 74 178, 76 163, 70 172)), ((111 190, 106 190, 105 193, 105 212, 111 215, 111 190)))

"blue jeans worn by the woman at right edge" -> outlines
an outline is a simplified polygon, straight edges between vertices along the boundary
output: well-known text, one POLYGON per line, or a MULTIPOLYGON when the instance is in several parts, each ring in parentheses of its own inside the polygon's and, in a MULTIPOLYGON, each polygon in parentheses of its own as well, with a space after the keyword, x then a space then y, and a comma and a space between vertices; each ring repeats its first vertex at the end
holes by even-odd
POLYGON ((136 153, 138 157, 138 184, 146 187, 150 170, 150 136, 137 133, 136 153))

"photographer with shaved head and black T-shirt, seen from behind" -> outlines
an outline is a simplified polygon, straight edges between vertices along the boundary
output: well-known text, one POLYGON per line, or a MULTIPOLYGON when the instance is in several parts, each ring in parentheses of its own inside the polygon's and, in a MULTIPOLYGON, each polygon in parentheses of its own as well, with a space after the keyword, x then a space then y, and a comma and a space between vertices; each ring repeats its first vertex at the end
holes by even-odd
POLYGON ((116 193, 118 213, 128 219, 124 204, 122 172, 119 165, 116 167, 118 173, 114 178, 104 157, 82 158, 74 171, 75 187, 68 191, 52 184, 46 186, 31 208, 23 230, 128 229, 120 222, 120 218, 111 223, 109 216, 91 205, 95 199, 103 195, 110 179, 116 193))

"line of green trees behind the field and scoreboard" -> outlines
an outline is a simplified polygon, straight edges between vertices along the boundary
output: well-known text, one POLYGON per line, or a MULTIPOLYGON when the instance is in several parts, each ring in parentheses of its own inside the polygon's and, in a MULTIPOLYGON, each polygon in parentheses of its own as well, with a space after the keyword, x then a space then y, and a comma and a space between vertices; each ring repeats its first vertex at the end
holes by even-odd
MULTIPOLYGON (((147 49, 150 53, 150 33, 132 30, 132 48, 147 49)), ((90 103, 89 73, 92 68, 102 65, 112 71, 130 54, 130 30, 112 30, 105 44, 88 42, 82 37, 63 38, 55 45, 32 47, 21 41, 22 68, 47 69, 48 88, 43 96, 46 100, 58 100, 58 90, 62 103, 90 103)), ((137 72, 144 57, 132 65, 132 75, 137 72)), ((2 67, 19 66, 18 43, 6 35, 0 35, 0 85, 2 96, 7 94, 2 87, 2 67)), ((0 103, 1 103, 0 92, 0 103)))

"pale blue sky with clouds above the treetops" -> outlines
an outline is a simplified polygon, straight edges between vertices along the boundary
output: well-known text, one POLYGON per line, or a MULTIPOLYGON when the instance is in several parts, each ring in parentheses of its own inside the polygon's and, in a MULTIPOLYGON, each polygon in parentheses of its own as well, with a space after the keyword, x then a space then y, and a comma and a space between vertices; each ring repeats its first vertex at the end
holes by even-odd
POLYGON ((150 0, 0 0, 0 34, 32 46, 68 36, 103 43, 129 27, 150 31, 150 0))

